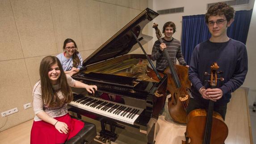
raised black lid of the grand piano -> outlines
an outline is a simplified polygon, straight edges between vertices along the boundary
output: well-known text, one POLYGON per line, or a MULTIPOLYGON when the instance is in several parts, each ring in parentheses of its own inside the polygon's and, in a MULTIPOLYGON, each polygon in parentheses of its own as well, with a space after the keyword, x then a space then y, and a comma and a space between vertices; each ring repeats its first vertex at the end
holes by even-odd
POLYGON ((157 12, 154 12, 150 8, 146 8, 126 26, 119 30, 118 33, 101 45, 101 47, 93 52, 88 58, 86 58, 83 62, 83 66, 122 56, 137 49, 139 46, 134 46, 137 41, 135 40, 131 30, 138 37, 138 40, 142 45, 147 43, 147 41, 150 41, 153 37, 143 35, 141 32, 144 26, 158 15, 159 14, 157 12))

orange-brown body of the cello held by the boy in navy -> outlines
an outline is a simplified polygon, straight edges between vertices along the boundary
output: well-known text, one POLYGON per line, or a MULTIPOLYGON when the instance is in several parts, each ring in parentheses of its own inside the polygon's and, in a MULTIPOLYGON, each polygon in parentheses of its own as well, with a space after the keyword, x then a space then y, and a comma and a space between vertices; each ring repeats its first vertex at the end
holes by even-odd
MULTIPOLYGON (((186 136, 190 138, 190 143, 182 141, 182 144, 203 144, 206 114, 205 109, 196 109, 189 113, 186 136)), ((218 112, 213 112, 212 125, 210 144, 224 144, 228 135, 228 128, 218 112)))

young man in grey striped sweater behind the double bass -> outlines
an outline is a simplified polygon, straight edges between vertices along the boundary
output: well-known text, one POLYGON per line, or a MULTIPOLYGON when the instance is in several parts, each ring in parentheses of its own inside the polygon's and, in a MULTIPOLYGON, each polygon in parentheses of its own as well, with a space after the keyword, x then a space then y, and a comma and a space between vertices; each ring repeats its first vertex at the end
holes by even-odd
POLYGON ((169 57, 174 64, 176 64, 177 58, 180 65, 187 66, 181 53, 180 41, 172 37, 175 31, 175 24, 172 21, 166 22, 163 26, 164 38, 162 38, 162 40, 164 43, 160 44, 160 41, 157 40, 153 46, 151 58, 153 61, 156 60, 156 70, 159 72, 164 72, 164 70, 168 67, 168 62, 163 52, 164 49, 167 49, 169 57))

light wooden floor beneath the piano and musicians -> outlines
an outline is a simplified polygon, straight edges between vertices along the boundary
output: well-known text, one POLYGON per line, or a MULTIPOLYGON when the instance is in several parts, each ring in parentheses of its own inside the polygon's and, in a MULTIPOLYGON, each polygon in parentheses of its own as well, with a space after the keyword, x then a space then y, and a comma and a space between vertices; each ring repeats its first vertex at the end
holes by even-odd
MULTIPOLYGON (((248 123, 250 118, 247 107, 245 91, 238 89, 232 94, 227 107, 225 122, 229 134, 225 144, 253 144, 250 142, 251 125, 248 123)), ((165 110, 168 110, 167 107, 165 110)), ((32 123, 33 119, 0 132, 0 144, 29 144, 32 123)), ((156 123, 155 144, 181 144, 181 140, 185 139, 185 128, 184 125, 174 123, 165 111, 156 123)), ((122 144, 126 144, 126 140, 122 140, 122 144)))

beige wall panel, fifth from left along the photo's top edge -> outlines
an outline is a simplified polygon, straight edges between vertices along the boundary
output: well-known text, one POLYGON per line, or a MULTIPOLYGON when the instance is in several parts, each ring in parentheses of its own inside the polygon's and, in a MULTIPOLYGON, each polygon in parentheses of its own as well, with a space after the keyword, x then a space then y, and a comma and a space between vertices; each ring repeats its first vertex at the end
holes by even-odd
POLYGON ((100 2, 102 41, 105 43, 117 33, 116 5, 100 2))

